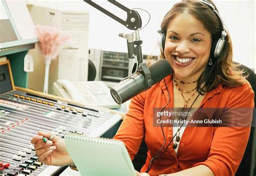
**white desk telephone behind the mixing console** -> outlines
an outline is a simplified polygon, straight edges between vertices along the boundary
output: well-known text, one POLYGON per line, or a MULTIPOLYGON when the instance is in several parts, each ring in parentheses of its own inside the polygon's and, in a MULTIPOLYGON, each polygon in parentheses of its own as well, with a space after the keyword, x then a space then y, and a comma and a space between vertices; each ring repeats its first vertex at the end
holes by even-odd
POLYGON ((109 87, 103 81, 71 82, 60 79, 53 83, 53 91, 57 96, 84 104, 110 109, 120 108, 120 105, 114 102, 109 87))

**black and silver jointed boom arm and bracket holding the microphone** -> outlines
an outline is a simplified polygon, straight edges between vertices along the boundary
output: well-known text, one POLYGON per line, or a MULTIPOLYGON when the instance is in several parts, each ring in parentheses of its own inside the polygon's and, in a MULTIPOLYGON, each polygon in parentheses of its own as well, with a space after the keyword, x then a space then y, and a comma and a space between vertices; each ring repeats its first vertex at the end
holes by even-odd
POLYGON ((140 46, 143 43, 143 41, 140 40, 140 36, 139 36, 139 29, 142 27, 142 19, 140 18, 139 13, 136 10, 131 10, 129 8, 126 8, 126 6, 118 3, 115 0, 107 0, 107 1, 126 12, 127 18, 125 21, 117 17, 113 13, 107 11, 106 9, 102 8, 95 2, 92 2, 91 0, 84 0, 84 2, 86 2, 87 4, 90 4, 97 10, 105 13, 105 15, 123 24, 125 27, 127 27, 127 29, 134 30, 134 32, 132 32, 131 34, 120 33, 119 37, 123 37, 127 40, 127 50, 128 50, 129 59, 134 59, 134 57, 137 57, 138 64, 140 65, 140 68, 142 68, 145 74, 146 89, 150 88, 154 84, 154 81, 151 79, 151 72, 149 70, 149 67, 147 67, 147 65, 143 63, 142 46, 140 46))

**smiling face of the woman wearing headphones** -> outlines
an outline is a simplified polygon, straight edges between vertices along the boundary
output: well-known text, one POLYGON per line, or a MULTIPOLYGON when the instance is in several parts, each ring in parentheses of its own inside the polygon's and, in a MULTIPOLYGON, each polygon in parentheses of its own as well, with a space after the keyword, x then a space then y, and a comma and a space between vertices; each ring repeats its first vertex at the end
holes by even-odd
POLYGON ((198 80, 208 62, 211 43, 211 33, 194 16, 185 12, 170 21, 164 55, 177 78, 198 80))

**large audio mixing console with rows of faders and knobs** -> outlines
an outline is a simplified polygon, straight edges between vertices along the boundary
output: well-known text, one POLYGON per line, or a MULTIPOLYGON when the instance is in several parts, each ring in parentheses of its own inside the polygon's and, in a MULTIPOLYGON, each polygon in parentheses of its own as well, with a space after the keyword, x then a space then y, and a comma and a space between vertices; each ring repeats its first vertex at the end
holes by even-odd
MULTIPOLYGON (((30 139, 37 131, 103 135, 121 119, 107 109, 91 109, 11 90, 0 94, 0 175, 50 175, 30 139)), ((57 167, 59 169, 59 167, 57 167)))

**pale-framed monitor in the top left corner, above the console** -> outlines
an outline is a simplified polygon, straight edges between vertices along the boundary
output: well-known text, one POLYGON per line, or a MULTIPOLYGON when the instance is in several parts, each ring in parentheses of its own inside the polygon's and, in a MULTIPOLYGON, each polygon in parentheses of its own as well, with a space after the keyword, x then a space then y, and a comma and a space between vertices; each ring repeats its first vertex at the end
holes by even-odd
POLYGON ((38 39, 24 1, 0 1, 0 57, 26 51, 38 39))

